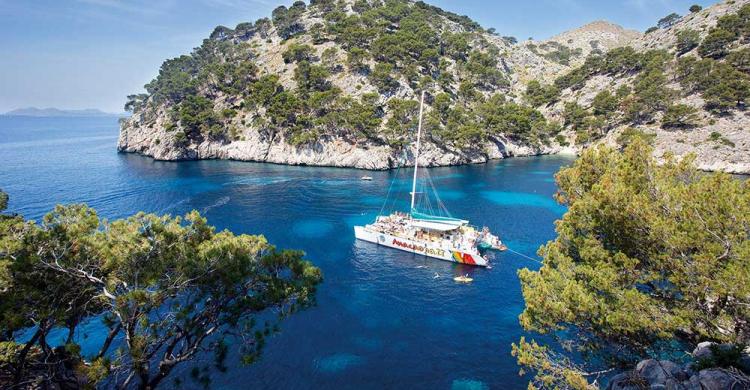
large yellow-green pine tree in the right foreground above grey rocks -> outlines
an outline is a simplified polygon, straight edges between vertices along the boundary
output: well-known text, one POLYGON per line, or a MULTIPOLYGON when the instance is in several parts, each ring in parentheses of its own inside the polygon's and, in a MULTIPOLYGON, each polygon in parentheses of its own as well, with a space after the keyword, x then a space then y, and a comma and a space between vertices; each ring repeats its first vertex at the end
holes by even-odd
POLYGON ((557 182, 569 206, 558 237, 539 249, 540 270, 519 272, 521 324, 563 347, 514 345, 533 385, 586 388, 591 371, 698 340, 750 341, 746 181, 699 173, 691 158, 660 165, 636 139, 585 151, 557 182))

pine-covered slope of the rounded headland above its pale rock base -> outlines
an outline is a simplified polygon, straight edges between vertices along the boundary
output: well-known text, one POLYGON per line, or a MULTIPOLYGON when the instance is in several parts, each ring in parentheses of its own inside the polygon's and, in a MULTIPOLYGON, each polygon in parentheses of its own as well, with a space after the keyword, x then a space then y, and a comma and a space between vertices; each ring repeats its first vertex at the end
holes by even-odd
POLYGON ((166 127, 184 142, 238 140, 251 126, 295 145, 326 135, 400 145, 416 119, 414 91, 430 89, 436 140, 546 139, 559 128, 505 98, 499 50, 475 22, 421 2, 298 1, 271 20, 217 27, 191 55, 166 61, 128 108, 167 107, 166 127), (259 66, 259 46, 274 40, 291 80, 259 66))

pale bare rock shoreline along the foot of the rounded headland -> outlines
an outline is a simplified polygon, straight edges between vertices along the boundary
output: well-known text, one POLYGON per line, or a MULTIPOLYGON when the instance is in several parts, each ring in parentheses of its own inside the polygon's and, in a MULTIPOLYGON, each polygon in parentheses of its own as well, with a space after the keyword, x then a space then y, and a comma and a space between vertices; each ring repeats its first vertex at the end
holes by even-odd
MULTIPOLYGON (((353 144, 334 137, 323 137, 312 144, 294 146, 282 138, 268 139, 257 131, 248 131, 245 135, 246 138, 242 141, 203 141, 180 145, 164 130, 123 128, 117 150, 162 161, 224 159, 365 170, 387 170, 414 165, 414 156, 408 148, 403 150, 389 145, 353 144)), ((499 137, 493 137, 483 145, 462 150, 427 140, 422 144, 419 164, 429 167, 454 166, 481 164, 509 157, 576 153, 577 150, 571 147, 533 147, 499 137)))

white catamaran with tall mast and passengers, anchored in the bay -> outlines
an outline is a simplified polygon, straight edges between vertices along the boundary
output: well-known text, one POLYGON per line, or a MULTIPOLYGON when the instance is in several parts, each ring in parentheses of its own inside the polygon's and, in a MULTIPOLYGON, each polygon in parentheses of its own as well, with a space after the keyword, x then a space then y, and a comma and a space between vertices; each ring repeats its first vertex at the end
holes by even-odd
POLYGON ((442 206, 443 214, 446 215, 434 215, 417 210, 415 202, 424 95, 423 91, 419 106, 417 143, 414 151, 414 176, 411 184, 410 211, 408 213, 397 211, 390 215, 382 215, 381 210, 381 215, 375 218, 375 222, 365 226, 355 226, 354 236, 359 240, 427 257, 487 267, 490 265, 486 253, 488 250, 502 251, 507 249, 488 228, 479 230, 471 226, 467 220, 453 218, 442 206, 434 186, 433 192, 438 198, 438 203, 442 206))

